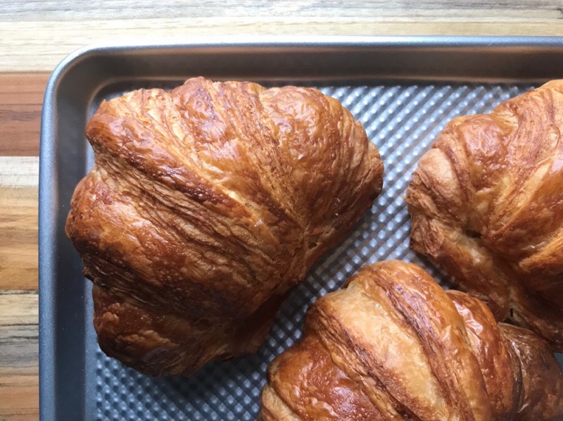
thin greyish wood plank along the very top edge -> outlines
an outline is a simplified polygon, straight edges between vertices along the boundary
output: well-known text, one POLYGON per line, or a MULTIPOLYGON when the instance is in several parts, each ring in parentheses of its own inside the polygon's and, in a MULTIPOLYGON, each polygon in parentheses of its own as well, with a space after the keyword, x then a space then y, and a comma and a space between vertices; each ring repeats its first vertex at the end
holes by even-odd
POLYGON ((561 5, 550 0, 513 0, 491 2, 488 0, 448 1, 419 0, 348 0, 346 6, 339 0, 58 0, 58 1, 0 1, 1 20, 108 20, 124 18, 286 18, 308 16, 331 18, 334 16, 391 16, 393 18, 483 18, 493 13, 516 18, 553 18, 561 5))

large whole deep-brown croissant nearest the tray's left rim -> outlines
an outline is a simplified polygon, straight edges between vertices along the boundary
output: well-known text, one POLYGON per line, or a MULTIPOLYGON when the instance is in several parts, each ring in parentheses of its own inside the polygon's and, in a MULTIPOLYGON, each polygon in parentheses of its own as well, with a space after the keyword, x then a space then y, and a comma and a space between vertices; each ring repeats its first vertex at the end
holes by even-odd
POLYGON ((381 191, 377 148, 316 89, 200 77, 103 102, 86 135, 66 232, 101 348, 152 375, 255 352, 381 191))

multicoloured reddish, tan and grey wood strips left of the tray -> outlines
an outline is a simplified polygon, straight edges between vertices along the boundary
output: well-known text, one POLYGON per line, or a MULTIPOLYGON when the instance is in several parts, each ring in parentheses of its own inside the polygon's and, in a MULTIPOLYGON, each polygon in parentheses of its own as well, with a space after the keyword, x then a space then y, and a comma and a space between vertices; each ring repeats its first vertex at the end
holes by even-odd
POLYGON ((48 77, 0 74, 0 420, 39 417, 37 184, 48 77))

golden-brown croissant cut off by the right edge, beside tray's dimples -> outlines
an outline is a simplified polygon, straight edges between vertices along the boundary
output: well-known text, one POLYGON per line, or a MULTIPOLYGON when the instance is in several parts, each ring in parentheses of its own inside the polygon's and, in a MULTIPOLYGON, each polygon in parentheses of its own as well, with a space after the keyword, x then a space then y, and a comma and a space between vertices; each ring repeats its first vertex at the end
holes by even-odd
POLYGON ((411 246, 563 351, 563 80, 455 118, 407 189, 411 246))

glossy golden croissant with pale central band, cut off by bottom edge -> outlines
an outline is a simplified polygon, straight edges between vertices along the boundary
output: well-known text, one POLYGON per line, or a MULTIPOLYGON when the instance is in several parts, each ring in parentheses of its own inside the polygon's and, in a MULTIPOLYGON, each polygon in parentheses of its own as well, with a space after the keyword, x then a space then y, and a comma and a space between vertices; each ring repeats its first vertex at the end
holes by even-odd
POLYGON ((268 368, 260 419, 561 420, 563 376, 533 332, 388 260, 312 304, 268 368))

